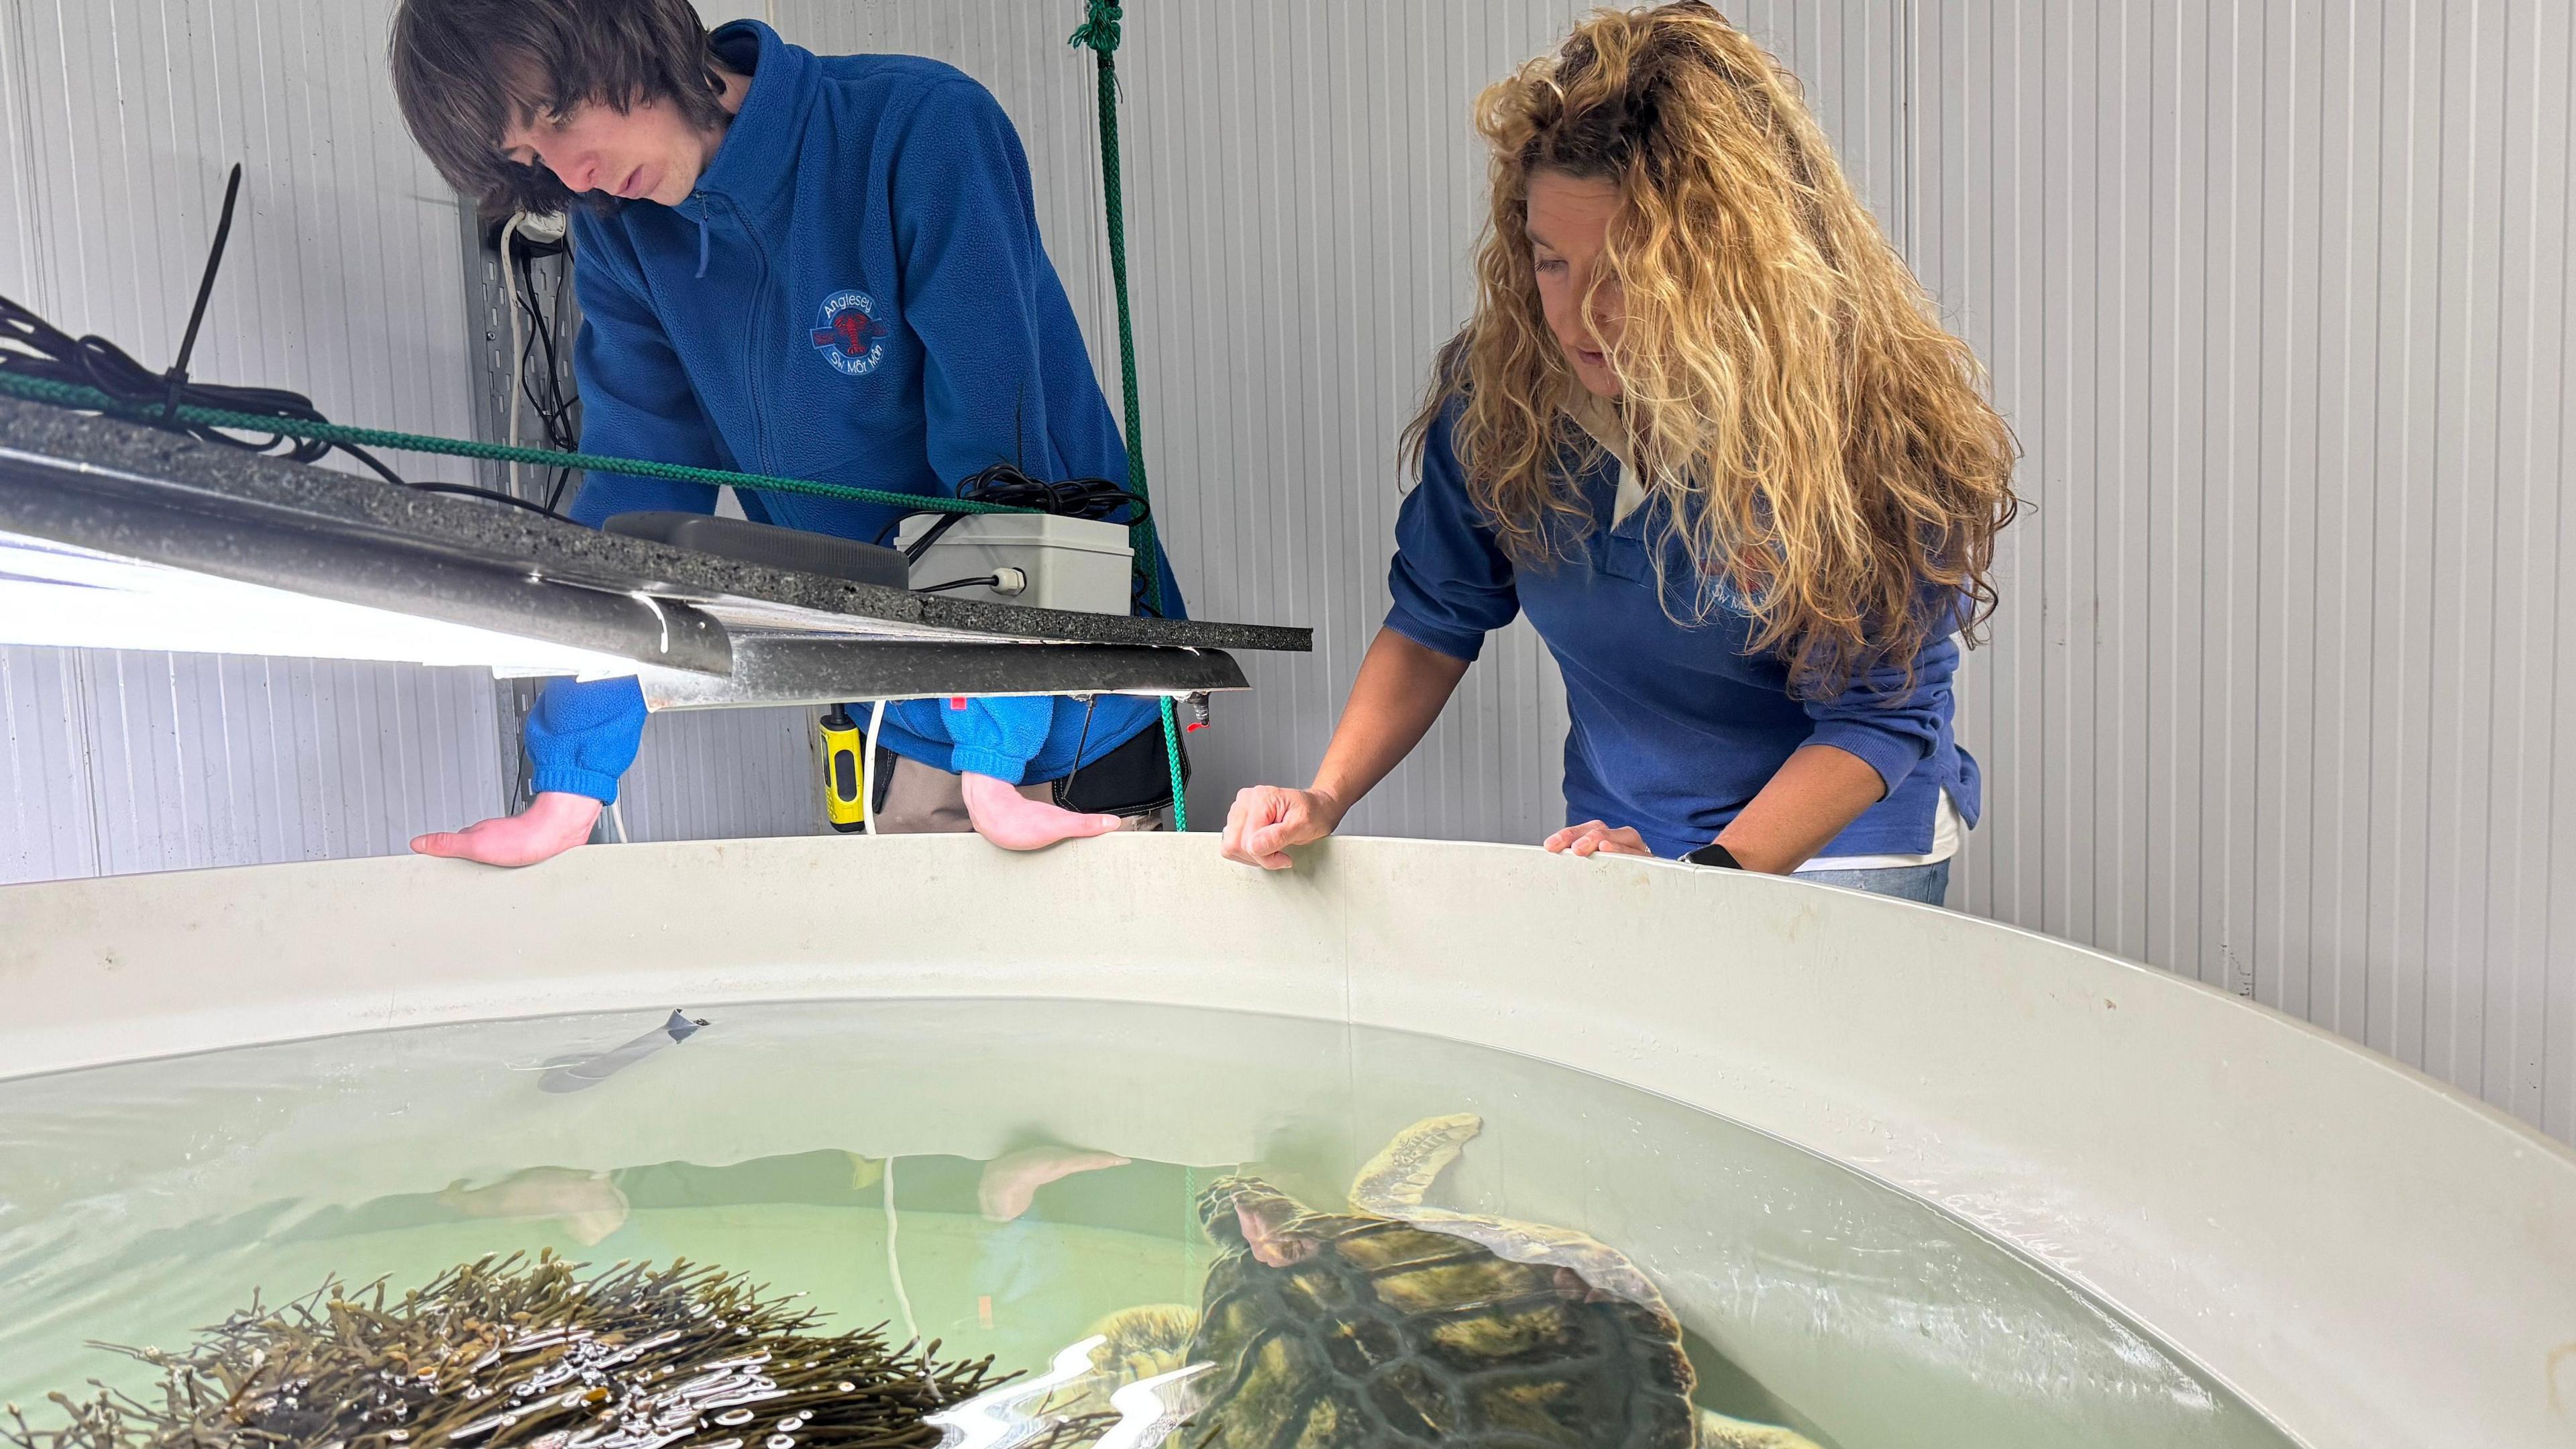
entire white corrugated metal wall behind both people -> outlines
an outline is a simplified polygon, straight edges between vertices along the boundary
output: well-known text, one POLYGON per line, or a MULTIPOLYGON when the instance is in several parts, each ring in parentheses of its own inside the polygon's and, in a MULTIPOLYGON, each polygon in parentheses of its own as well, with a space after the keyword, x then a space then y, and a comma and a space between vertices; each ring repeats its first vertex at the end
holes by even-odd
MULTIPOLYGON (((1092 72, 1064 49, 1079 5, 739 8, 1002 95, 1115 387, 1092 72)), ((1311 660, 1249 660, 1260 694, 1200 737, 1203 817, 1321 753, 1383 608, 1394 433, 1466 309, 1466 103, 1579 8, 1128 5, 1167 536, 1198 614, 1319 629, 1311 660)), ((453 219, 392 119, 386 10, 0 0, 0 289, 160 356, 216 165, 245 152, 286 242, 234 260, 211 356, 353 418, 461 428, 453 219)), ((2576 949, 2553 938, 2576 931, 2553 869, 2576 830, 2571 8, 1736 13, 1806 77, 2030 451, 2007 614, 1965 686, 1991 820, 1955 900, 2576 1134, 2576 949)), ((489 688, 435 670, 10 650, 0 719, 0 877, 384 851, 505 779, 489 688)), ((1556 822, 1561 730, 1543 650, 1502 637, 1355 828, 1530 838, 1556 822)), ((629 825, 811 828, 804 771, 791 719, 665 719, 629 825)))

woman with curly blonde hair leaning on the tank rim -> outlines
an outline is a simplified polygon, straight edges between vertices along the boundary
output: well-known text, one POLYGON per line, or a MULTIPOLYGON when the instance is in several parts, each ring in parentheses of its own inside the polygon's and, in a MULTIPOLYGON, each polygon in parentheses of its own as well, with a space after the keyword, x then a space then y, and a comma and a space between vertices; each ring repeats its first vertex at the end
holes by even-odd
POLYGON ((1394 608, 1280 869, 1517 611, 1566 676, 1551 851, 1942 900, 1976 822, 1950 676, 1994 608, 2012 433, 1780 64, 1705 3, 1595 13, 1476 101, 1476 315, 1406 433, 1394 608))

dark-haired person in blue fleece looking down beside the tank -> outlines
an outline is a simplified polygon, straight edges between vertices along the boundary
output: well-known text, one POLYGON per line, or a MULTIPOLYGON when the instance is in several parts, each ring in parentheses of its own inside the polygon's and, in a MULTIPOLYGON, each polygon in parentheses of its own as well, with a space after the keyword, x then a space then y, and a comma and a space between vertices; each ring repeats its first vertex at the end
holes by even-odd
MULTIPOLYGON (((448 183, 489 214, 572 211, 585 451, 912 495, 992 464, 1126 477, 1020 137, 958 70, 817 57, 757 21, 708 34, 688 0, 402 0, 392 64, 448 183)), ((706 485, 595 472, 569 513, 714 505, 706 485)), ((742 508, 845 539, 896 518, 788 492, 742 508)), ((1177 614, 1167 567, 1162 596, 1177 614)), ((891 704, 881 828, 971 822, 1036 848, 1159 815, 1074 812, 1048 789, 1159 758, 1141 737, 1157 717, 1128 696, 891 704)), ((412 848, 533 864, 577 846, 641 730, 631 678, 549 683, 528 717, 536 802, 412 848)))

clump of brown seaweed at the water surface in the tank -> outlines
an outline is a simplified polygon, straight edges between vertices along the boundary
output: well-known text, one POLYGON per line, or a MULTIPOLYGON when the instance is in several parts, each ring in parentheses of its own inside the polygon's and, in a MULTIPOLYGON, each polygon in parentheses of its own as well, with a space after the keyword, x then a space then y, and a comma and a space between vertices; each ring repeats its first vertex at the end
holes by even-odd
MULTIPOLYGON (((927 1415, 1015 1374, 889 1346, 739 1274, 482 1258, 428 1287, 327 1281, 234 1312, 162 1369, 157 1403, 95 1385, 70 1418, 0 1415, 8 1449, 935 1449, 927 1415)), ((1110 1415, 1113 1418, 1113 1415, 1110 1415)), ((1103 1421, 1033 1444, 1072 1444, 1103 1421)))

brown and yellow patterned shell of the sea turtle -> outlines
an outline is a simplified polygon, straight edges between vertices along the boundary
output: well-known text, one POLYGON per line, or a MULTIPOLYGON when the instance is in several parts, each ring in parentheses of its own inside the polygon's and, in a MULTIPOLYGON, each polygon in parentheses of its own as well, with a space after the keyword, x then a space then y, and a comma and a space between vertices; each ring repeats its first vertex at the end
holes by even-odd
POLYGON ((1224 1250, 1190 1343, 1213 1364, 1195 1449, 1692 1444, 1692 1369, 1662 1305, 1358 1212, 1288 1220, 1296 1261, 1273 1266, 1203 1217, 1224 1250))

